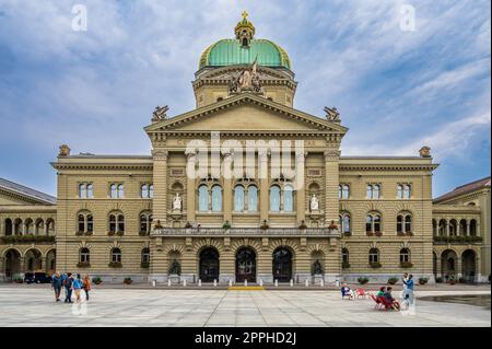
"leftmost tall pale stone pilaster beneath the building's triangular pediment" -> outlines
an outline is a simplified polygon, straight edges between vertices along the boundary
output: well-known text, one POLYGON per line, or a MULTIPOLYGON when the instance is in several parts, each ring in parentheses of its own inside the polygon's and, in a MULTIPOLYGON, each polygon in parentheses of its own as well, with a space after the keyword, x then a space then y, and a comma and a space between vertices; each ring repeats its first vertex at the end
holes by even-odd
POLYGON ((154 168, 153 185, 154 198, 152 199, 153 223, 161 222, 166 225, 167 220, 167 156, 168 152, 164 150, 152 151, 154 168))

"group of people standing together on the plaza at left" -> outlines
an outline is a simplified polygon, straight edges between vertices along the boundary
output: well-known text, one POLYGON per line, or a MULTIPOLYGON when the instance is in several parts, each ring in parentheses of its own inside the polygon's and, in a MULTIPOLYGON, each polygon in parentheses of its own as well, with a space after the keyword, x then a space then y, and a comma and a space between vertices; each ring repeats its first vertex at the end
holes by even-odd
POLYGON ((85 275, 81 279, 80 274, 77 276, 71 272, 60 274, 57 271, 51 277, 51 288, 55 291, 55 302, 60 302, 61 290, 65 290, 65 303, 72 302, 72 293, 75 293, 75 302, 81 302, 81 291, 85 292, 85 300, 89 301, 89 291, 91 291, 91 279, 85 275))

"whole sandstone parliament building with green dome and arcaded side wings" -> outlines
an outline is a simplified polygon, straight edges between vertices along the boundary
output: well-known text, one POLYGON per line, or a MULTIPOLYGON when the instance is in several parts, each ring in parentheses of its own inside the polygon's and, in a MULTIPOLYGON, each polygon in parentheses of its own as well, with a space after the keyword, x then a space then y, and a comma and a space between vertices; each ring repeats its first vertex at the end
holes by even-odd
POLYGON ((340 113, 294 108, 296 86, 288 53, 243 13, 199 57, 196 108, 142 119, 149 154, 63 144, 56 197, 0 179, 0 280, 487 281, 490 177, 433 198, 429 147, 344 156, 340 113))

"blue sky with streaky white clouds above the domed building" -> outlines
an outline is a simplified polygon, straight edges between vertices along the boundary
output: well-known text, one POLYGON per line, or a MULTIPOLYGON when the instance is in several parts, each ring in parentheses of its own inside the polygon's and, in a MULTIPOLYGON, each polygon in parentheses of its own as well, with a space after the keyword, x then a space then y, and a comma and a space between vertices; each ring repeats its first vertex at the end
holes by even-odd
POLYGON ((201 51, 232 37, 247 10, 281 45, 298 81, 294 106, 337 106, 344 155, 432 148, 434 195, 490 175, 489 0, 0 0, 0 176, 56 194, 49 165, 73 153, 149 154, 156 105, 192 109, 201 51), (87 31, 71 30, 72 5, 87 31), (400 8, 415 31, 400 30, 400 8))

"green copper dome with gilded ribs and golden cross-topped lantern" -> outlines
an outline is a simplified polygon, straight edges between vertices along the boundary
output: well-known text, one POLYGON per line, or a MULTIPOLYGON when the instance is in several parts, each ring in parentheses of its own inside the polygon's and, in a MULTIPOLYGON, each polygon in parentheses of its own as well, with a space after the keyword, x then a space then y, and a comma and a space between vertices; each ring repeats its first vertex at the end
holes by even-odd
POLYGON ((267 39, 255 39, 255 27, 243 12, 243 20, 235 27, 236 38, 226 38, 210 45, 200 57, 198 69, 250 65, 257 59, 259 66, 291 70, 289 55, 279 45, 267 39))

